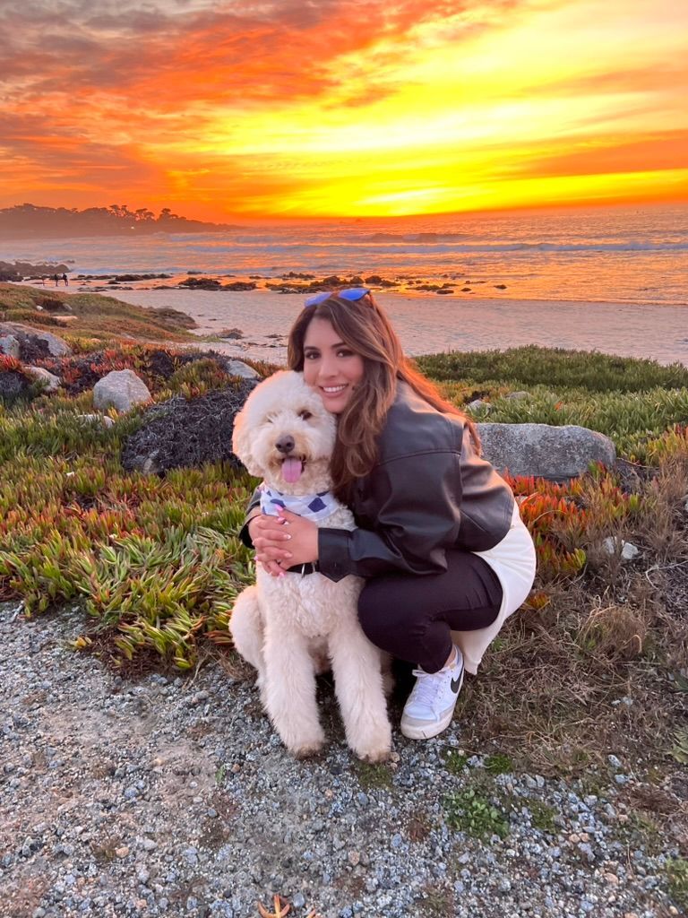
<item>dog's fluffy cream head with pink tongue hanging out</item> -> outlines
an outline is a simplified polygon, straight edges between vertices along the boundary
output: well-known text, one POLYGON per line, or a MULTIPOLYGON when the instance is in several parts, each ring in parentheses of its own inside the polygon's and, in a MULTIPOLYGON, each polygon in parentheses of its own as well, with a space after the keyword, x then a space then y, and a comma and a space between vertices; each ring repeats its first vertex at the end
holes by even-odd
POLYGON ((304 376, 283 370, 251 392, 234 419, 232 449, 251 475, 284 494, 331 485, 329 460, 337 421, 304 376))

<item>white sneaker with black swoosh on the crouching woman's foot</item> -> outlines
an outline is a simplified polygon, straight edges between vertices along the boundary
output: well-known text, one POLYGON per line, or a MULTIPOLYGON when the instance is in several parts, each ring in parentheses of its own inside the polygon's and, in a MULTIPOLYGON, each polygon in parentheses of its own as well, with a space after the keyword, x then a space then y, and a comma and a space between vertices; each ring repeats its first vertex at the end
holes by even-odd
POLYGON ((438 673, 414 669, 416 685, 402 714, 401 732, 411 740, 428 740, 445 730, 463 684, 463 655, 458 647, 452 664, 438 673))

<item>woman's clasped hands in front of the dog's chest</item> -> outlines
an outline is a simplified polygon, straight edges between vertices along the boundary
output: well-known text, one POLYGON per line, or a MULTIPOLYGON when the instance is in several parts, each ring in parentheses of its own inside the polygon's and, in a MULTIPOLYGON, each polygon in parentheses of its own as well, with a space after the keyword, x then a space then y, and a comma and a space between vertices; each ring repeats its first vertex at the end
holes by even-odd
POLYGON ((286 567, 317 561, 316 523, 289 510, 279 513, 279 517, 261 514, 249 522, 256 561, 273 577, 280 577, 286 567))

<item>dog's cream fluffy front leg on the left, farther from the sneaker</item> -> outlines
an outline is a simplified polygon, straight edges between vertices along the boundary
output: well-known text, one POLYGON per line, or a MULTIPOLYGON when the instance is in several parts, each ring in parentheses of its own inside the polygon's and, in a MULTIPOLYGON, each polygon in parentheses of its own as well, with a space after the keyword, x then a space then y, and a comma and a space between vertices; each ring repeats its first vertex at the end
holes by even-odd
POLYGON ((316 676, 305 638, 268 619, 265 633, 265 699, 270 719, 287 749, 312 756, 325 742, 316 705, 316 676), (272 627, 271 627, 272 626, 272 627))

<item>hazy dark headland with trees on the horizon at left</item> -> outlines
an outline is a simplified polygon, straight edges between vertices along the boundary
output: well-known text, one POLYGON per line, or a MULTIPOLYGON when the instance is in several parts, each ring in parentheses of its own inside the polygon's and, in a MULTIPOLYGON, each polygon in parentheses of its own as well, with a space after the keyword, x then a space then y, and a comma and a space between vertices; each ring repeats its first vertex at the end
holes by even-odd
POLYGON ((205 223, 173 214, 162 207, 158 217, 148 207, 129 210, 126 204, 108 207, 39 207, 17 204, 0 209, 0 239, 28 237, 117 236, 151 232, 222 232, 239 229, 227 223, 205 223))

